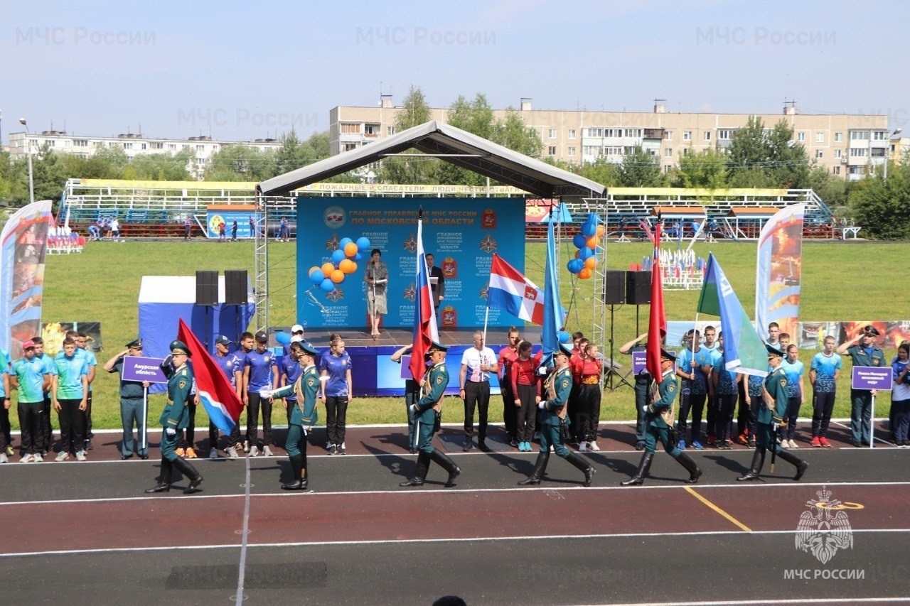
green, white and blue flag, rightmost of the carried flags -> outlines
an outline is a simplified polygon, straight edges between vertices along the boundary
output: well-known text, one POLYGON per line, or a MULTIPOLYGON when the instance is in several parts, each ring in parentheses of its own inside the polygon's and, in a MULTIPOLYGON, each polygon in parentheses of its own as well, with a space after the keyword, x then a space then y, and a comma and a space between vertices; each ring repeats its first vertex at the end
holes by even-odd
POLYGON ((723 327, 723 365, 731 372, 766 377, 768 358, 764 342, 755 331, 745 309, 723 275, 713 253, 708 257, 698 311, 721 317, 723 327))

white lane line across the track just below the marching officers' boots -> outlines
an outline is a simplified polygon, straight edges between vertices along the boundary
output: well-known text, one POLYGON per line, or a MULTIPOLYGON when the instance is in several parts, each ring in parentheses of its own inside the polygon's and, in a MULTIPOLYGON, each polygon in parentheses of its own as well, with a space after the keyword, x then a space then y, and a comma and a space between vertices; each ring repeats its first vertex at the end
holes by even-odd
MULTIPOLYGON (((247 480, 249 483, 249 478, 247 480)), ((336 490, 336 491, 327 491, 327 492, 307 492, 306 494, 294 494, 289 492, 264 492, 261 494, 208 494, 208 495, 195 495, 192 497, 111 497, 109 499, 56 499, 56 500, 24 500, 16 502, 0 502, 0 508, 4 507, 15 507, 15 506, 31 506, 31 505, 73 505, 78 503, 116 503, 116 502, 133 502, 133 501, 142 501, 142 500, 155 500, 161 503, 170 502, 173 500, 180 500, 185 502, 187 500, 211 500, 211 499, 258 499, 258 498, 269 498, 269 499, 316 499, 319 497, 338 497, 338 496, 364 496, 364 495, 401 495, 405 497, 420 497, 420 495, 426 494, 450 494, 450 495, 464 495, 464 494, 475 494, 483 492, 552 492, 552 491, 563 491, 563 490, 581 490, 583 492, 598 492, 605 490, 620 490, 621 492, 628 492, 633 494, 635 492, 641 492, 643 490, 685 490, 686 487, 693 489, 730 489, 730 490, 760 490, 766 488, 784 488, 784 489, 802 489, 813 486, 907 486, 910 485, 910 481, 895 481, 895 482, 794 482, 794 481, 784 481, 781 483, 774 484, 765 484, 765 483, 749 483, 749 484, 695 484, 690 485, 686 484, 684 486, 675 486, 675 485, 656 485, 656 486, 636 486, 635 488, 627 488, 623 486, 591 486, 590 488, 585 488, 583 486, 540 486, 536 488, 498 488, 498 489, 463 489, 463 490, 451 490, 451 489, 423 489, 423 490, 400 490, 400 489, 389 489, 389 490, 336 490)), ((186 504, 186 503, 185 503, 186 504)), ((248 514, 248 504, 246 506, 248 514)))

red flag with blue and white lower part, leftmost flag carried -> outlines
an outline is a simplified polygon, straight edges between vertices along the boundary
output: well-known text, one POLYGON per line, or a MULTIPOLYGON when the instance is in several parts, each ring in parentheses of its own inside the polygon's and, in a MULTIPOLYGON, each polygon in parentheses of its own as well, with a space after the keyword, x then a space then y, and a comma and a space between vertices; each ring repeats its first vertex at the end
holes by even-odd
POLYGON ((237 392, 183 318, 180 318, 177 338, 187 344, 192 354, 196 393, 202 405, 206 407, 208 419, 218 429, 230 433, 237 425, 240 411, 243 410, 243 403, 238 399, 237 392))

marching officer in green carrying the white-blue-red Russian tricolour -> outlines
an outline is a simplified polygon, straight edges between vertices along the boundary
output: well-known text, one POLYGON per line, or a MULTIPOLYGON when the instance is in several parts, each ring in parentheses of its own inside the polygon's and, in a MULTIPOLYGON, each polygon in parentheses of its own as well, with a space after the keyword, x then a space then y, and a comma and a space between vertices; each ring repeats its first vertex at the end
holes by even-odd
POLYGON ((455 486, 455 479, 461 470, 448 456, 433 448, 433 434, 440 430, 442 419, 442 394, 449 385, 449 371, 446 370, 446 351, 449 348, 433 342, 428 355, 432 366, 420 379, 420 392, 422 397, 416 404, 411 404, 410 409, 417 423, 417 470, 414 477, 401 482, 399 486, 423 486, 430 470, 430 461, 435 461, 443 470, 449 472, 446 488, 455 486))

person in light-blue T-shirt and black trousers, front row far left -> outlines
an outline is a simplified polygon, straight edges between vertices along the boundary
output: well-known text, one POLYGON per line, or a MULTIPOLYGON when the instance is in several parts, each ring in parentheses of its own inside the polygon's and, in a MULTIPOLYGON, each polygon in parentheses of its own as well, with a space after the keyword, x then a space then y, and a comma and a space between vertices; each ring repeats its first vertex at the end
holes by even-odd
POLYGON ((65 338, 63 351, 54 358, 51 373, 51 398, 60 419, 60 452, 56 461, 86 460, 86 397, 88 394, 88 367, 86 359, 76 356, 76 341, 65 338))

